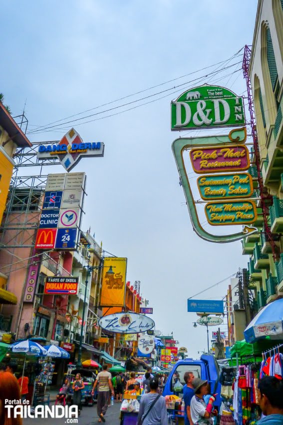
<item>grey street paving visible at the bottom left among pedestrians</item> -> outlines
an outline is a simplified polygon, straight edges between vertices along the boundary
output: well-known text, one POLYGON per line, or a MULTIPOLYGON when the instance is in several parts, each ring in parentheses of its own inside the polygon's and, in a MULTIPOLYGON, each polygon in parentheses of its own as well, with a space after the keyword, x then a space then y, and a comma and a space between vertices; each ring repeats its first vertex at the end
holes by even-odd
MULTIPOLYGON (((54 403, 51 403, 54 404, 54 403)), ((106 425, 119 425, 119 409, 121 403, 115 403, 113 406, 108 407, 107 414, 105 415, 106 425)), ((64 423, 76 423, 67 422, 66 419, 25 419, 23 425, 63 425, 64 423)), ((96 425, 98 424, 98 417, 96 413, 96 404, 92 407, 83 407, 81 414, 78 418, 79 425, 96 425)))

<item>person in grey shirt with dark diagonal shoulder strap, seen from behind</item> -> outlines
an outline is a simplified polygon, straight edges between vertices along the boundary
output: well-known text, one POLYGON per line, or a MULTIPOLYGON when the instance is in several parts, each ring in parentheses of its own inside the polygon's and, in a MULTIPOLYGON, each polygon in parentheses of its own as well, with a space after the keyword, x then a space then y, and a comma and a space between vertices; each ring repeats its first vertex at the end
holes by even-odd
POLYGON ((150 392, 141 397, 137 425, 167 425, 165 398, 158 394, 158 379, 149 381, 150 392))

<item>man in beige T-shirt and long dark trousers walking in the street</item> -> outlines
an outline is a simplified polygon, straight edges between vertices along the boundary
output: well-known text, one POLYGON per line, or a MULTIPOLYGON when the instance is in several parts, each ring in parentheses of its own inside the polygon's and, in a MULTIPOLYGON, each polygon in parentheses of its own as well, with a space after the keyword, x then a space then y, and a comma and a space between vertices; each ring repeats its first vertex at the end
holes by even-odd
POLYGON ((97 396, 97 415, 99 422, 105 422, 105 413, 108 408, 109 391, 114 396, 114 389, 111 381, 111 373, 107 371, 107 364, 103 364, 103 371, 99 372, 92 388, 92 395, 98 385, 98 396, 97 396))

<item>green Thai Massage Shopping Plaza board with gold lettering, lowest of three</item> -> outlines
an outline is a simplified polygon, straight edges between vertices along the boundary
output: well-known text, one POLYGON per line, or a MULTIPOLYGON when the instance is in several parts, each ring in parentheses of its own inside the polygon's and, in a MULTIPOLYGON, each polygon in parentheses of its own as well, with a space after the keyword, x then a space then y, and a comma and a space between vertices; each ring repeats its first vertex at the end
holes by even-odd
POLYGON ((249 224, 257 219, 257 208, 251 200, 208 202, 205 206, 205 213, 208 222, 213 226, 249 224))

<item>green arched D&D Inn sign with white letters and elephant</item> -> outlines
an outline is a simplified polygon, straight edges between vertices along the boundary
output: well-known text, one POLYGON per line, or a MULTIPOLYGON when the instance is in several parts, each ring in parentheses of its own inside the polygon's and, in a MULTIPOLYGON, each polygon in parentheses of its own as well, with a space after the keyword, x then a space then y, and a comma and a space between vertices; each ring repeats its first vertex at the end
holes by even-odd
POLYGON ((218 85, 201 85, 171 102, 171 130, 245 124, 243 97, 218 85))

